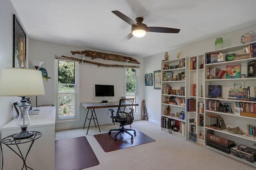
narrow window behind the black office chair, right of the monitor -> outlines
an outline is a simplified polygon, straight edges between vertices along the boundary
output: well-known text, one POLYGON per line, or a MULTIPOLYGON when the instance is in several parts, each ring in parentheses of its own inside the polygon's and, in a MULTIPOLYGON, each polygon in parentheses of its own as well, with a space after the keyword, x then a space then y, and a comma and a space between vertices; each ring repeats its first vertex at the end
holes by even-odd
MULTIPOLYGON (((125 96, 134 98, 134 103, 138 101, 138 69, 125 68, 125 96)), ((134 112, 137 112, 137 107, 134 107, 134 112)))

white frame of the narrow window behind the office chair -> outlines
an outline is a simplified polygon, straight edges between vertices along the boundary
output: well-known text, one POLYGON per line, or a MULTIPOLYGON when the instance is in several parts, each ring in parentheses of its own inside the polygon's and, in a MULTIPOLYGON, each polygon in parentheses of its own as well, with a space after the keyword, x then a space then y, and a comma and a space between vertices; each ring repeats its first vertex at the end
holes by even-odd
MULTIPOLYGON (((140 80, 140 78, 139 78, 140 69, 139 68, 134 68, 134 69, 136 69, 135 76, 129 76, 129 77, 135 77, 136 78, 136 93, 135 93, 135 100, 134 101, 136 101, 136 103, 138 103, 138 101, 139 101, 139 96, 138 96, 139 88, 138 87, 139 87, 139 80, 140 80)), ((126 93, 126 68, 124 68, 124 96, 133 96, 133 95, 129 95, 129 94, 126 93)), ((135 109, 134 114, 137 114, 137 113, 139 113, 139 107, 138 106, 135 106, 135 107, 136 107, 136 109, 135 109)))

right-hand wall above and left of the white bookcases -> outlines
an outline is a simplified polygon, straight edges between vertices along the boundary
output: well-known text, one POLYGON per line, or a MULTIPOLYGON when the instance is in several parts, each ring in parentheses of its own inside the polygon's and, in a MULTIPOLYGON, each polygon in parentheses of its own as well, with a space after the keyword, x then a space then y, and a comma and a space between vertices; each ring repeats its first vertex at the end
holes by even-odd
MULTIPOLYGON (((182 47, 178 47, 175 49, 171 49, 168 52, 169 59, 175 59, 177 57, 177 53, 182 51, 182 57, 185 56, 195 56, 202 55, 206 51, 213 51, 215 39, 217 37, 222 37, 224 42, 224 47, 230 47, 234 45, 241 44, 241 36, 248 31, 256 32, 256 25, 251 25, 249 27, 245 27, 236 31, 232 31, 229 33, 225 33, 222 35, 218 35, 216 37, 204 39, 202 41, 198 41, 195 43, 190 43, 188 45, 184 45, 182 47)), ((254 37, 255 41, 255 37, 254 37)), ((152 55, 150 57, 144 58, 144 74, 152 72, 154 70, 161 70, 161 62, 164 59, 164 52, 152 55), (157 64, 156 64, 157 63, 157 64)), ((161 92, 160 90, 154 90, 152 86, 145 86, 144 88, 144 96, 146 101, 146 106, 149 113, 150 121, 160 125, 160 117, 161 117, 161 92), (154 97, 152 97, 154 96, 154 97), (158 102, 156 102, 158 101, 158 102)))

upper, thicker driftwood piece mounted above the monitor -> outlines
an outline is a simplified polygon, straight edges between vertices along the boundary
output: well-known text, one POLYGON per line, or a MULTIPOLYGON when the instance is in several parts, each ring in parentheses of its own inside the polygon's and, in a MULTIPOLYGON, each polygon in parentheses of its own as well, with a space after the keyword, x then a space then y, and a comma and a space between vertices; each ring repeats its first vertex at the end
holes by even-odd
POLYGON ((114 61, 122 61, 122 62, 128 62, 128 63, 135 63, 140 64, 137 60, 133 59, 132 57, 126 57, 123 55, 117 55, 117 54, 108 54, 108 53, 102 53, 98 51, 70 51, 72 55, 75 54, 81 54, 85 55, 86 57, 91 57, 92 59, 104 59, 104 60, 114 60, 114 61))

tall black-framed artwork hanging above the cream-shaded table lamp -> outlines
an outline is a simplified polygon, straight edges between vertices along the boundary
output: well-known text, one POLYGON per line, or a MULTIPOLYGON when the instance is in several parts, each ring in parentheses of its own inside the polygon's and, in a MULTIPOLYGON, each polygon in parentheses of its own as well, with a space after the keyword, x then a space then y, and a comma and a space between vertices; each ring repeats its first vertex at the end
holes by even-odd
POLYGON ((13 15, 13 67, 26 68, 26 33, 13 15))

